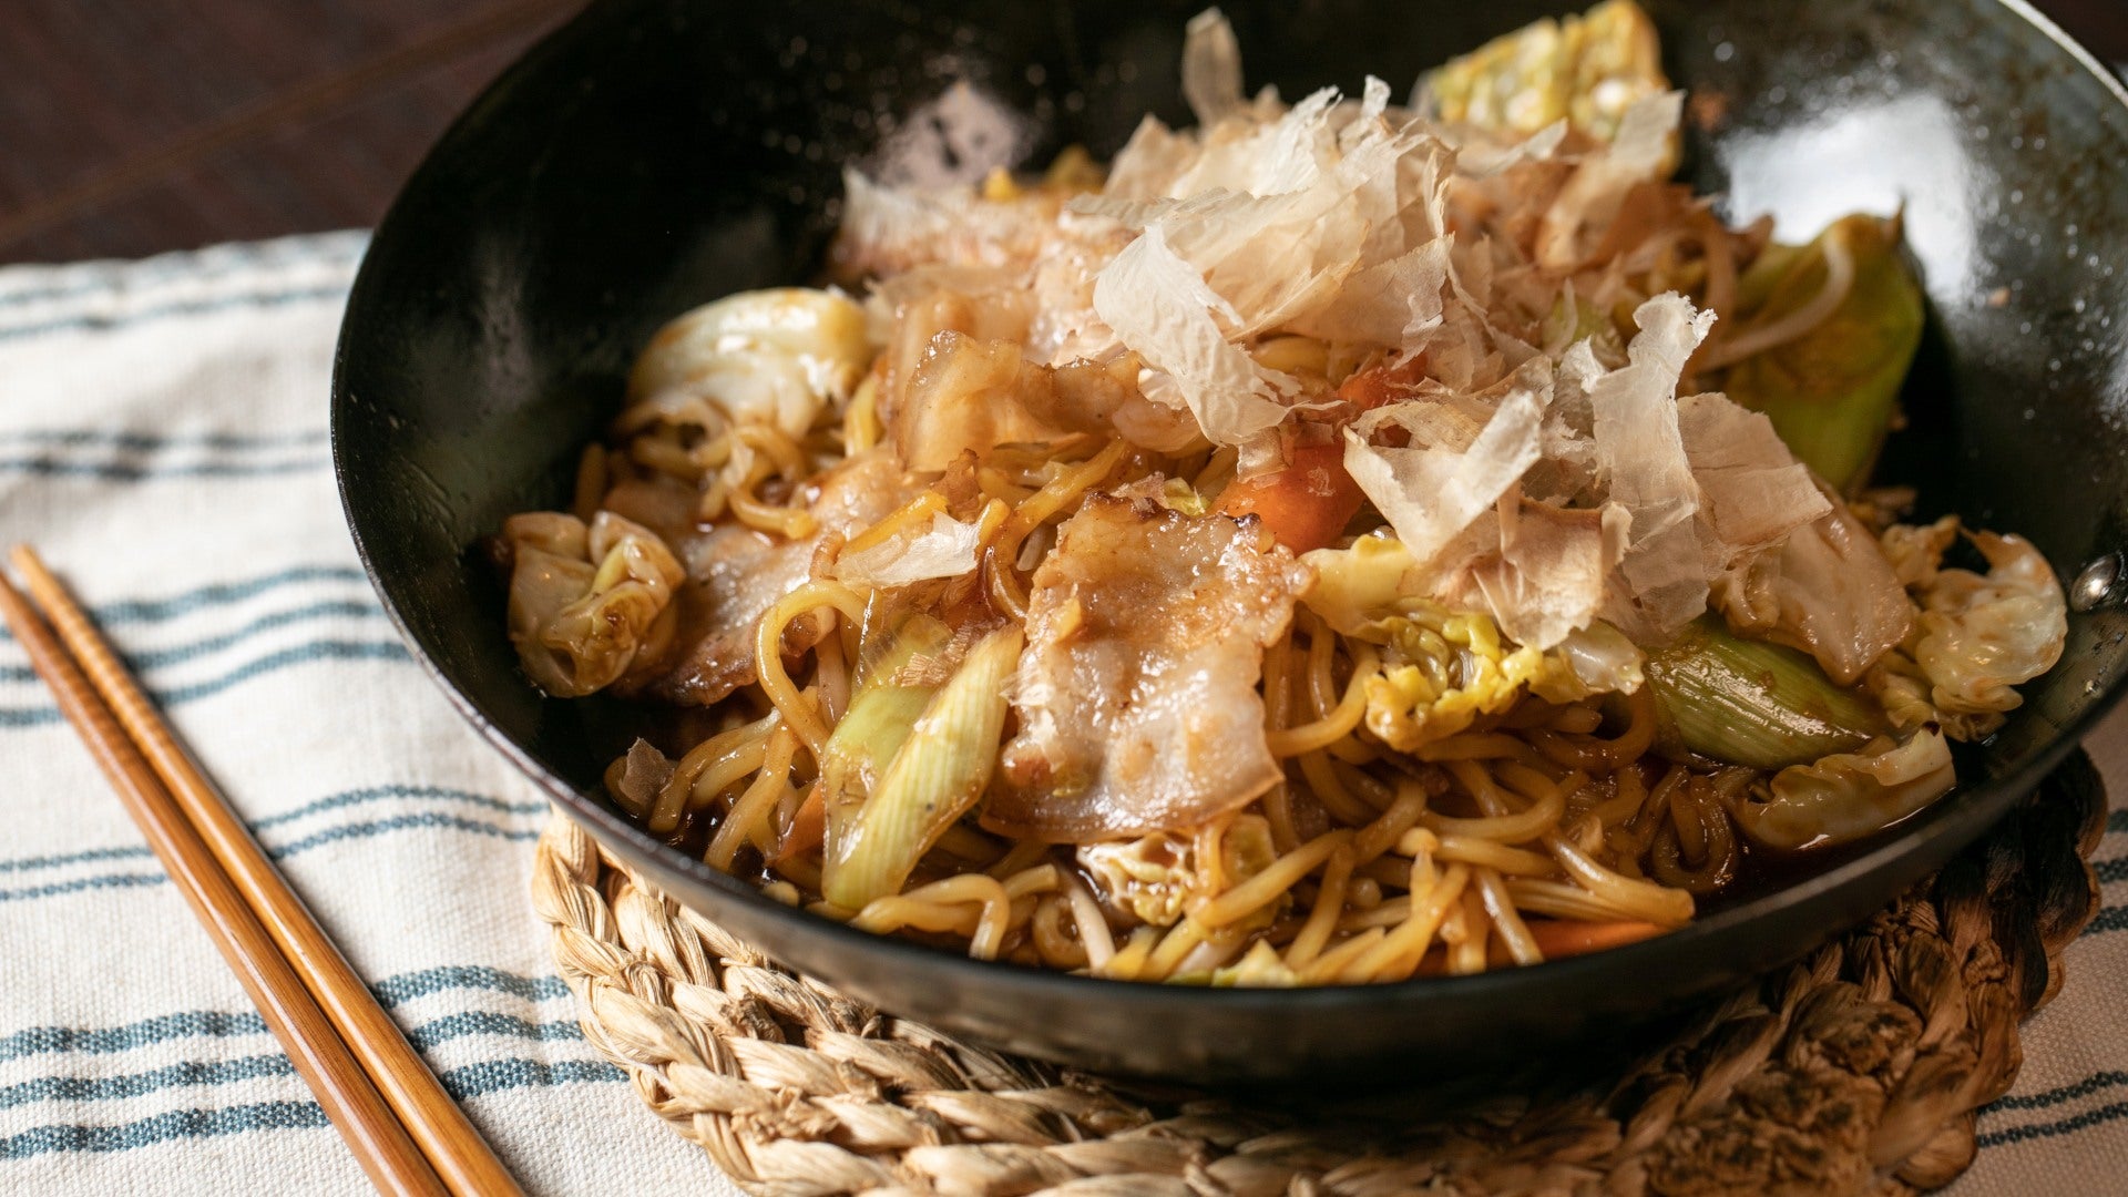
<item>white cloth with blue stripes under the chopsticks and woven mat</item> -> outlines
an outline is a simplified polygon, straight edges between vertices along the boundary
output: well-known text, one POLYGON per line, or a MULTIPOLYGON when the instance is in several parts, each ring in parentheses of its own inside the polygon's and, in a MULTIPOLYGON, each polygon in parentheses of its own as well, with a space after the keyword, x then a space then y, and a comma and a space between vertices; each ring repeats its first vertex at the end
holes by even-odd
MULTIPOLYGON (((583 1044, 528 901, 547 807, 347 541, 326 394, 362 247, 0 268, 0 539, 74 584, 526 1188, 732 1193, 583 1044)), ((2092 750, 2128 792, 2128 722, 2092 750)), ((2100 875, 2128 880, 2113 818, 2100 875)), ((364 1193, 13 639, 0 826, 0 1193, 364 1193)), ((1960 1197, 2128 1176, 2124 927, 2068 950, 1960 1197)))

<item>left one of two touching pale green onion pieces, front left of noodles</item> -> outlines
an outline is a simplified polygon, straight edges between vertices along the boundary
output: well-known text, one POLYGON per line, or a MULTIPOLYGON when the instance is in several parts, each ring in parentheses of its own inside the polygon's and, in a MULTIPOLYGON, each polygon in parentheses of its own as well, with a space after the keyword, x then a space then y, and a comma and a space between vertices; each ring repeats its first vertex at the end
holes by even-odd
POLYGON ((887 763, 924 716, 934 684, 911 682, 909 669, 919 656, 945 652, 953 628, 930 616, 902 620, 885 643, 864 660, 858 692, 849 711, 834 724, 819 763, 819 792, 828 814, 828 860, 847 852, 855 833, 858 811, 877 788, 887 763))

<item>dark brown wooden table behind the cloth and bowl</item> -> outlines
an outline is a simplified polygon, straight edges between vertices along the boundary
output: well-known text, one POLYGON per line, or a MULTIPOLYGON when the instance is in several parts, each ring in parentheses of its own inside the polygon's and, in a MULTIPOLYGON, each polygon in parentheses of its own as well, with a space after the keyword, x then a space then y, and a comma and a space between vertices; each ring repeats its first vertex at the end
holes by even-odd
MULTIPOLYGON (((0 0, 0 262, 375 224, 577 4, 0 0)), ((2128 0, 2039 6, 2128 62, 2128 0)))

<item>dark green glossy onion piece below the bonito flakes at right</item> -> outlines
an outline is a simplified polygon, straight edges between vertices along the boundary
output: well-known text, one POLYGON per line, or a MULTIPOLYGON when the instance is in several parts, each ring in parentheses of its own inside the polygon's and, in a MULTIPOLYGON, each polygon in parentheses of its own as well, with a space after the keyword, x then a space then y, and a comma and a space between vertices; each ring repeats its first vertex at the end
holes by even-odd
POLYGON ((1883 711, 1792 647, 1730 635, 1700 616, 1647 656, 1670 743, 1751 769, 1809 765, 1888 731, 1883 711))

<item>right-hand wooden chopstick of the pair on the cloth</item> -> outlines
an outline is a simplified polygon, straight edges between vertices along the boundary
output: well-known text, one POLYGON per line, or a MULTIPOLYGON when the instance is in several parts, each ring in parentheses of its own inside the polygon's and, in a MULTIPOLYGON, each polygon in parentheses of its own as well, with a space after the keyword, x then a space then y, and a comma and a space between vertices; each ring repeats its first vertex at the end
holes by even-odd
POLYGON ((326 1012, 338 1037, 362 1063, 413 1142, 419 1144, 443 1184, 458 1197, 519 1193, 502 1161, 377 1005, 347 956, 251 839, 251 831, 221 790, 206 780, 192 754, 177 741, 155 703, 140 690, 111 643, 66 592, 66 586, 45 569, 45 562, 28 545, 17 545, 13 560, 64 647, 81 665, 102 703, 123 724, 132 748, 147 758, 168 797, 174 799, 179 818, 189 822, 198 839, 206 843, 234 890, 272 937, 277 954, 302 978, 317 1007, 326 1012))

